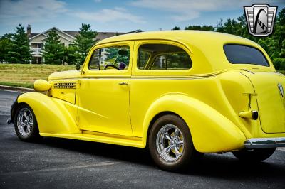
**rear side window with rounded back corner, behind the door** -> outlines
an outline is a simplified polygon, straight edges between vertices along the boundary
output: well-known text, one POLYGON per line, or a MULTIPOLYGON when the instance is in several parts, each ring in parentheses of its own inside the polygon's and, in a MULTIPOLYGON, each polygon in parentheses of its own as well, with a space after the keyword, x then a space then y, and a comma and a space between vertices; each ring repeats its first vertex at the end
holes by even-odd
POLYGON ((141 70, 187 70, 191 67, 190 56, 175 45, 145 44, 139 48, 138 68, 141 70), (142 56, 146 53, 147 58, 142 56))

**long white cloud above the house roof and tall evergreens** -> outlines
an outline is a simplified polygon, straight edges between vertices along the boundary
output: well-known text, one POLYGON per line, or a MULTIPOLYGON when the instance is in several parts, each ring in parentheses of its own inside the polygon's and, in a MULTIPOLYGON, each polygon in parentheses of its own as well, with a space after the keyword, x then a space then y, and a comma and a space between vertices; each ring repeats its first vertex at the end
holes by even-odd
POLYGON ((78 11, 72 13, 73 16, 88 21, 97 21, 99 23, 107 23, 112 21, 130 21, 133 23, 145 23, 142 18, 135 16, 132 13, 128 13, 123 8, 114 9, 102 9, 97 12, 78 11))

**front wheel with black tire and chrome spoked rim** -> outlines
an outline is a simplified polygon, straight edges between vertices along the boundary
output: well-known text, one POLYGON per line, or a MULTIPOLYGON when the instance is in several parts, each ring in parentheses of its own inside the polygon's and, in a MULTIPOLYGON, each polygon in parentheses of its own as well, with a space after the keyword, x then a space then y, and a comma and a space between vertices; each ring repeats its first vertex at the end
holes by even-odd
POLYGON ((21 141, 40 139, 38 124, 33 110, 27 104, 21 104, 17 109, 14 120, 15 131, 21 141))

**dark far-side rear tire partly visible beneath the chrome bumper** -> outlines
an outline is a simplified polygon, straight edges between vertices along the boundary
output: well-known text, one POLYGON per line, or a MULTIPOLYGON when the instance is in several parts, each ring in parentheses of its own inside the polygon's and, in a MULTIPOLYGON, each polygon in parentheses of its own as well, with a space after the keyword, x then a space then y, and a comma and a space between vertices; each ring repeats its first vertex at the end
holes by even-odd
POLYGON ((233 151, 236 158, 241 161, 258 162, 269 158, 276 148, 258 148, 252 150, 233 151))

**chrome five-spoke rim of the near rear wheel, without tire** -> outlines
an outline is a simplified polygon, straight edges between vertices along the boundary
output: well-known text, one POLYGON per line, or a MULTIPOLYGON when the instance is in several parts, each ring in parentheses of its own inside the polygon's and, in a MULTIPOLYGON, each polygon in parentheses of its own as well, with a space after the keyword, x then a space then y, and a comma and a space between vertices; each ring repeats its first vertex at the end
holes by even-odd
POLYGON ((156 147, 160 156, 168 162, 177 161, 184 150, 183 135, 173 124, 162 126, 157 133, 156 147))

